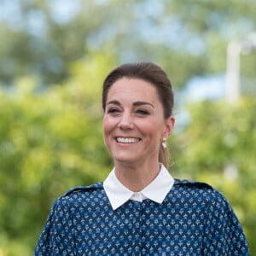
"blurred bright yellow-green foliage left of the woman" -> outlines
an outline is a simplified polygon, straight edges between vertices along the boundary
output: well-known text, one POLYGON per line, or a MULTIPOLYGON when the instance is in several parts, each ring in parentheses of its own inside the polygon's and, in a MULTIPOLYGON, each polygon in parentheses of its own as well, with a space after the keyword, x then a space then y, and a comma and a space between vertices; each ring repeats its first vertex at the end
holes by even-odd
POLYGON ((72 79, 39 91, 31 77, 0 92, 0 252, 30 255, 55 199, 103 180, 101 88, 113 58, 91 54, 72 79))

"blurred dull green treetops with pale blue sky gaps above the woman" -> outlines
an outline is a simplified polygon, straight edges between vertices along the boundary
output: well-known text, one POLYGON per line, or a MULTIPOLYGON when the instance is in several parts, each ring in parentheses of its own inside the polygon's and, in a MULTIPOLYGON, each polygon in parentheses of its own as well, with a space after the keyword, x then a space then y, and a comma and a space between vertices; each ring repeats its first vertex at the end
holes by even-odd
POLYGON ((31 74, 44 85, 60 83, 67 79, 73 61, 90 55, 88 49, 110 45, 119 62, 155 61, 177 88, 183 87, 193 76, 224 73, 228 42, 255 30, 251 0, 23 0, 16 4, 20 11, 9 11, 0 26, 3 84, 31 74))

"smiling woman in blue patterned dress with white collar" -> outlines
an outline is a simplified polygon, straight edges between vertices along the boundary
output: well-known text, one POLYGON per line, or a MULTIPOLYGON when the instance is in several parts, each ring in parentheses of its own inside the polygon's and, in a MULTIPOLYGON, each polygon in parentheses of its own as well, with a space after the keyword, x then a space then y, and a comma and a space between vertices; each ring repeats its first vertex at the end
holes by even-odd
POLYGON ((117 67, 102 107, 113 171, 55 201, 35 255, 249 255, 224 196, 166 170, 174 125, 166 73, 150 62, 117 67))

